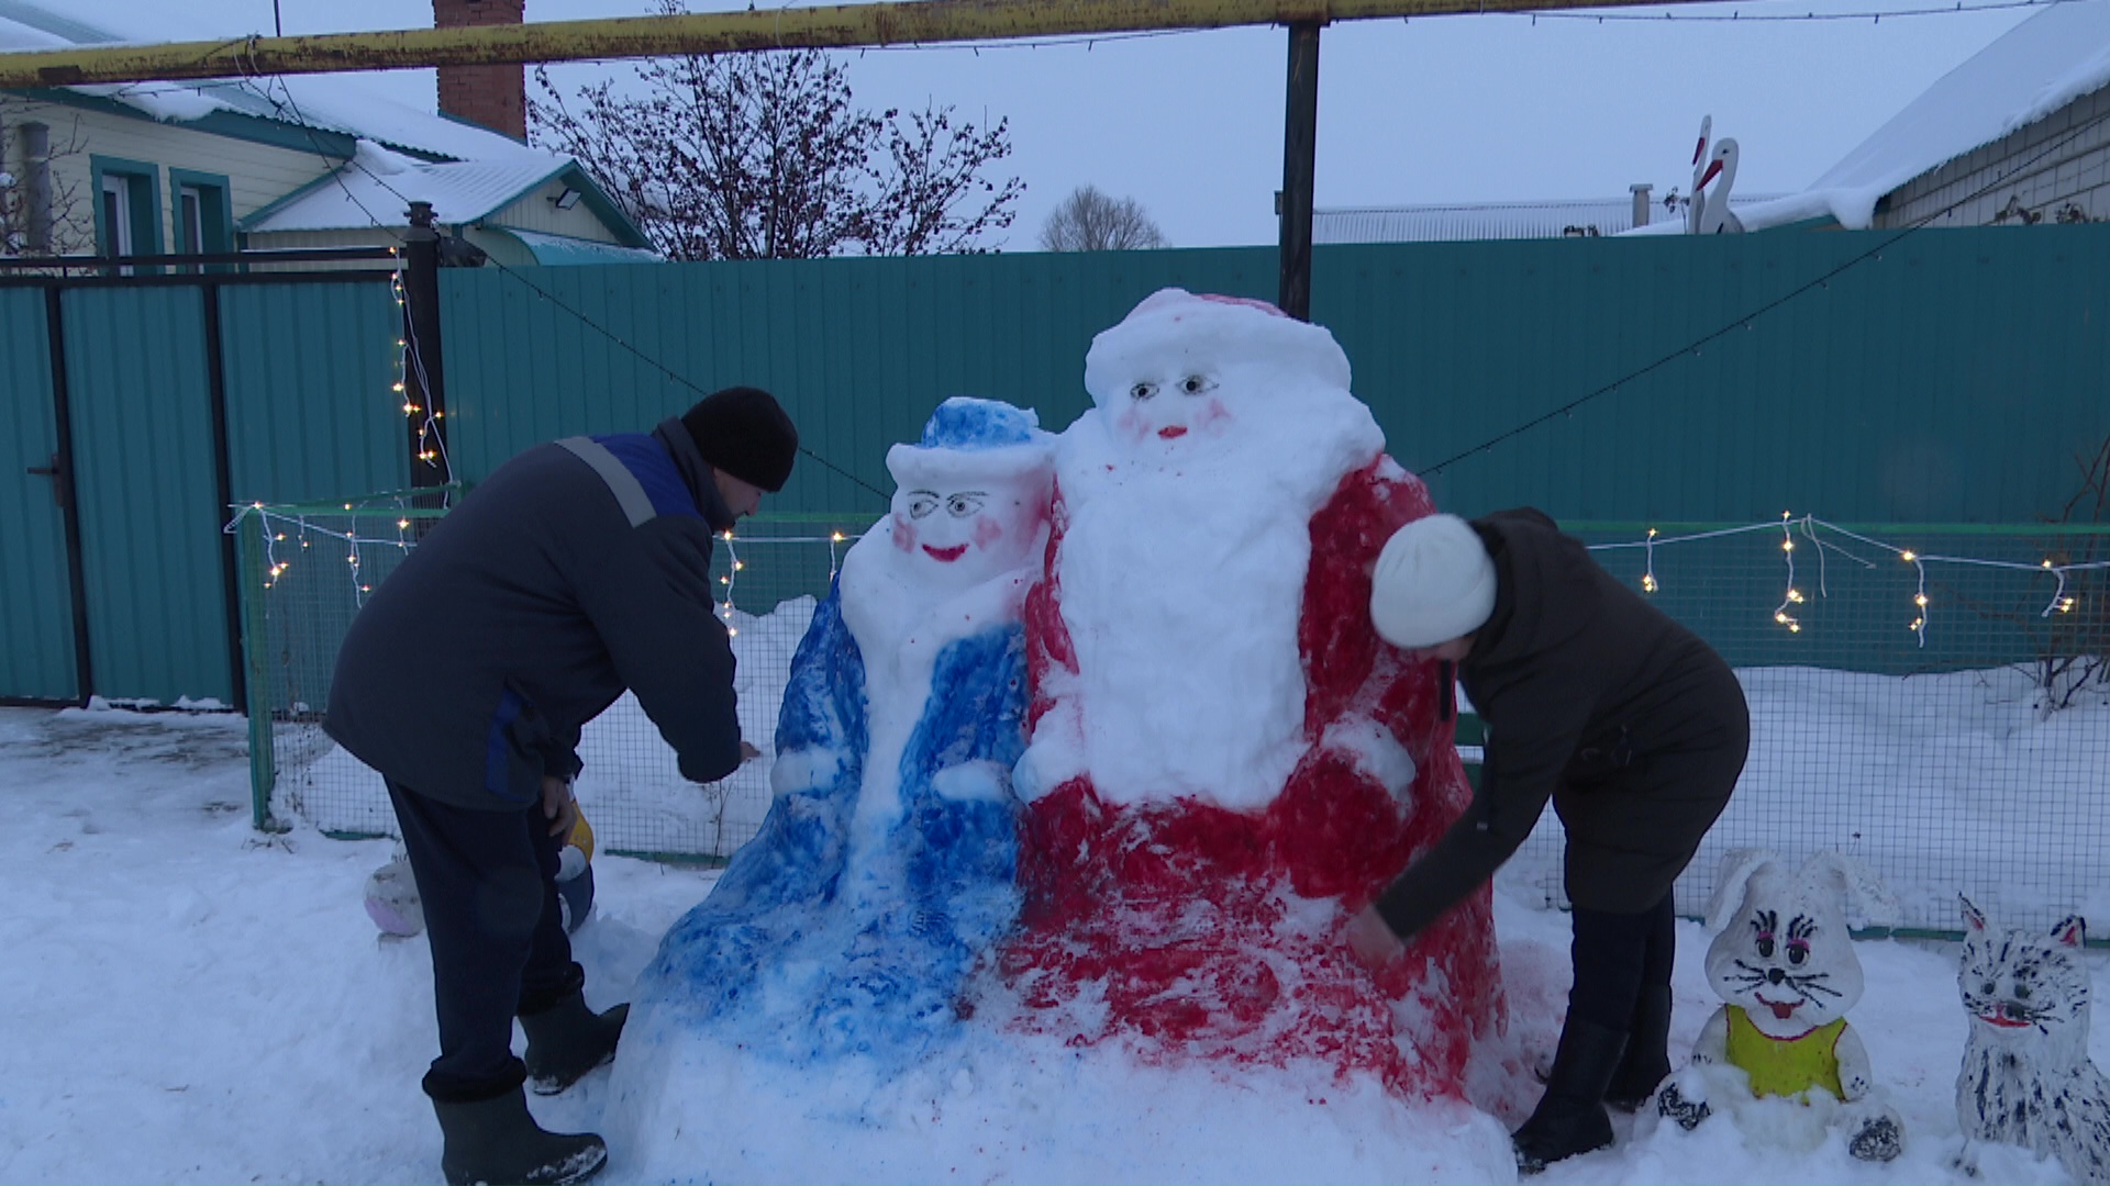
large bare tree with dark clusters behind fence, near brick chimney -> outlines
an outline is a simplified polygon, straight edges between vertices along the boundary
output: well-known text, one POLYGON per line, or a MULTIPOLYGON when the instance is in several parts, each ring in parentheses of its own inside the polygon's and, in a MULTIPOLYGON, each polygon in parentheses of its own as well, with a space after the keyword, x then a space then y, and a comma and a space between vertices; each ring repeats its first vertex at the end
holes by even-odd
POLYGON ((673 260, 981 251, 1025 192, 985 175, 1011 154, 1006 120, 857 108, 821 51, 650 59, 627 89, 582 87, 576 110, 546 70, 536 84, 536 141, 576 156, 673 260))

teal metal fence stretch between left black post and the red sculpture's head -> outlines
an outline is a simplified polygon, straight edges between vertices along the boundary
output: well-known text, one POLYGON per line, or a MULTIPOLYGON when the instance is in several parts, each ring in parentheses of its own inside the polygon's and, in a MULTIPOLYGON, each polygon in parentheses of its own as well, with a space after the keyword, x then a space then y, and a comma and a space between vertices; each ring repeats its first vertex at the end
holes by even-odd
POLYGON ((768 509, 840 513, 886 506, 886 447, 918 437, 941 399, 1006 399, 1061 428, 1087 405, 1091 336, 1142 295, 1173 283, 1268 295, 1277 264, 1234 249, 485 268, 441 281, 460 477, 536 441, 650 428, 720 386, 755 384, 827 462, 802 458, 768 509))

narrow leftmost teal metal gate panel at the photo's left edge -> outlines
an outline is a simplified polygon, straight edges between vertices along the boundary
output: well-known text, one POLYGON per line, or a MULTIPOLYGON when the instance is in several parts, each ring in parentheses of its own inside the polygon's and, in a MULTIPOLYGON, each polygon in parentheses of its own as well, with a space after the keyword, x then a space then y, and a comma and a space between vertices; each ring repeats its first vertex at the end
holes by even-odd
POLYGON ((40 289, 0 291, 0 696, 63 701, 78 694, 65 517, 30 473, 59 449, 40 289))

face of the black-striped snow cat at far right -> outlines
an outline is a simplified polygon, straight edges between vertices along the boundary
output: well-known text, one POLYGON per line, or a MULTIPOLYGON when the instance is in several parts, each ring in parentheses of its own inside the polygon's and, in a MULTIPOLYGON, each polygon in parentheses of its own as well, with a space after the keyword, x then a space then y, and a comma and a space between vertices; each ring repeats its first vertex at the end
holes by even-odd
POLYGON ((2064 1036, 2076 1026, 2085 1034, 2089 969, 2080 962, 2080 918, 2066 918, 2049 935, 1994 931, 1969 899, 1962 907, 1964 956, 1956 988, 1973 1032, 2002 1042, 2064 1036))

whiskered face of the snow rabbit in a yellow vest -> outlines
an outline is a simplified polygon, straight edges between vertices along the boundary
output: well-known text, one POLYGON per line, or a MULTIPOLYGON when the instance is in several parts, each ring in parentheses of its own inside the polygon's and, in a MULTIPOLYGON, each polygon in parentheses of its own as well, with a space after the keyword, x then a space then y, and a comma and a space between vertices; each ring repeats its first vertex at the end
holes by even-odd
POLYGON ((1745 884, 1745 901, 1707 948, 1707 981, 1768 1038, 1798 1038, 1861 1000, 1861 960, 1846 918, 1779 865, 1745 884))

